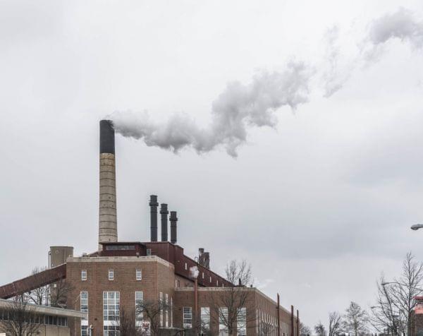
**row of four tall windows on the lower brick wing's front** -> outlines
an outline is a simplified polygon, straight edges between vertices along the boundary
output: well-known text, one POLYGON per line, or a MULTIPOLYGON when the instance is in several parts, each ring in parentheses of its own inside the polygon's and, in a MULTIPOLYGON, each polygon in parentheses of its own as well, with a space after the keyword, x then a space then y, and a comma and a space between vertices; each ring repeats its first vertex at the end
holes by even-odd
MULTIPOLYGON (((228 335, 228 308, 219 308, 219 335, 228 335)), ((183 328, 192 328, 192 307, 183 307, 183 328)), ((200 328, 202 332, 210 330, 210 307, 200 308, 200 328)), ((247 309, 240 308, 237 316, 237 335, 247 335, 247 309)))

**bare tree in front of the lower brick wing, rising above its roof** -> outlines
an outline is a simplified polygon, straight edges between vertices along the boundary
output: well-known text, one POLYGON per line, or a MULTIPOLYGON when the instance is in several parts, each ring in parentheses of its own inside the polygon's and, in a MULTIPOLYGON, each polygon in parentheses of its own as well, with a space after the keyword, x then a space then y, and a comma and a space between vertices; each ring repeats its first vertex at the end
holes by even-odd
POLYGON ((236 335, 237 324, 247 328, 247 323, 255 320, 255 314, 247 313, 254 311, 250 300, 252 291, 246 288, 252 284, 252 272, 245 260, 231 260, 226 265, 225 273, 226 280, 234 286, 225 287, 219 294, 212 296, 212 308, 216 314, 211 316, 219 328, 223 326, 228 335, 236 335))

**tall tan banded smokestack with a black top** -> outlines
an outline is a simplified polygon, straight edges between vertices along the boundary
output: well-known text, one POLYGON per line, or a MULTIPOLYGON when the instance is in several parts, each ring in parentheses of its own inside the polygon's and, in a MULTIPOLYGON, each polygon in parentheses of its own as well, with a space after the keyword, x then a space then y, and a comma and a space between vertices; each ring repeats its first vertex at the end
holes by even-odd
POLYGON ((102 248, 102 243, 108 241, 118 241, 116 164, 113 122, 102 120, 100 121, 99 248, 102 248))

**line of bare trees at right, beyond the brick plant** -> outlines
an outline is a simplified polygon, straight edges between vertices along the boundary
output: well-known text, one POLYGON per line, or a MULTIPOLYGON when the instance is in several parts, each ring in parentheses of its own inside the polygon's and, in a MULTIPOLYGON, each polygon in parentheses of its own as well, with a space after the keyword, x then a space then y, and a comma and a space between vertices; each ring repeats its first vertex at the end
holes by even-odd
POLYGON ((365 309, 351 301, 344 313, 329 313, 327 328, 321 321, 313 330, 301 323, 300 335, 412 335, 415 296, 423 293, 422 280, 423 264, 409 252, 400 275, 388 280, 382 272, 376 280, 376 298, 371 306, 365 309))

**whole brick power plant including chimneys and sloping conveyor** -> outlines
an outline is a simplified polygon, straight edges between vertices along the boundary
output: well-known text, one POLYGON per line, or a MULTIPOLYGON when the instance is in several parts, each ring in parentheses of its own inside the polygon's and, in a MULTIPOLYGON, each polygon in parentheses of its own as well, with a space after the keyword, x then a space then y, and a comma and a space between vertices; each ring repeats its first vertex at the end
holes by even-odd
POLYGON ((177 213, 169 216, 164 203, 158 241, 157 196, 149 200, 149 241, 118 241, 114 154, 113 124, 100 121, 98 251, 74 256, 71 246, 51 246, 49 270, 0 287, 0 298, 54 287, 64 279, 70 288, 66 307, 87 313, 87 318, 69 321, 71 335, 123 335, 123 316, 133 318, 139 335, 228 335, 225 317, 231 308, 222 306, 222 298, 243 295, 230 323, 233 335, 299 335, 293 306, 288 311, 257 288, 228 282, 209 269, 209 253, 203 248, 195 259, 185 256, 177 244, 177 213), (147 302, 159 307, 157 319, 149 315, 147 302))

